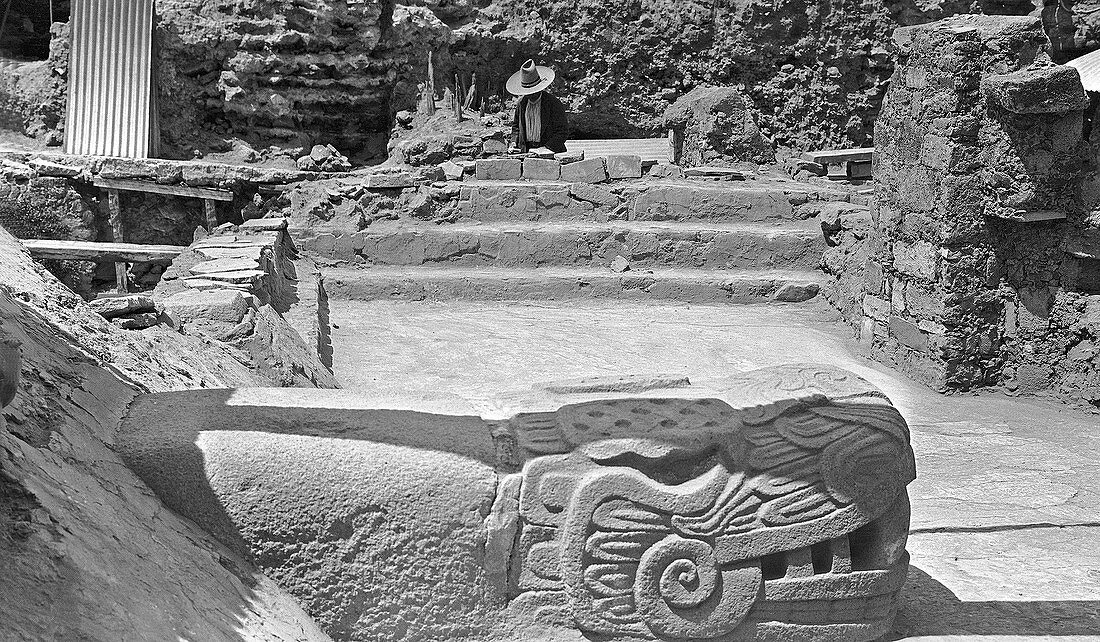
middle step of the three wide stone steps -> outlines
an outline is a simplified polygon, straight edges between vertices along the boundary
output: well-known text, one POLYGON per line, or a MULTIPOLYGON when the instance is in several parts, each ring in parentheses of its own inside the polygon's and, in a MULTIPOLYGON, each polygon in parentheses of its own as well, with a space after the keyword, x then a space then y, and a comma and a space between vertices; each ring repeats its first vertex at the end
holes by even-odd
POLYGON ((468 267, 610 266, 622 256, 636 269, 814 269, 825 251, 814 221, 784 225, 657 221, 394 225, 356 232, 330 244, 322 237, 300 241, 306 251, 338 261, 468 267))

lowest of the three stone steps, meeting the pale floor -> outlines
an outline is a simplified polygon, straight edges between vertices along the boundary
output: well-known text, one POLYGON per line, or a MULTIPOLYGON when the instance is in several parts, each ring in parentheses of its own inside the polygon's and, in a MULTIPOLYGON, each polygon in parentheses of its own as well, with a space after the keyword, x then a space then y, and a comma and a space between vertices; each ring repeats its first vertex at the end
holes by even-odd
POLYGON ((811 270, 607 268, 337 267, 324 270, 333 299, 483 301, 626 299, 692 303, 807 301, 825 275, 811 270))

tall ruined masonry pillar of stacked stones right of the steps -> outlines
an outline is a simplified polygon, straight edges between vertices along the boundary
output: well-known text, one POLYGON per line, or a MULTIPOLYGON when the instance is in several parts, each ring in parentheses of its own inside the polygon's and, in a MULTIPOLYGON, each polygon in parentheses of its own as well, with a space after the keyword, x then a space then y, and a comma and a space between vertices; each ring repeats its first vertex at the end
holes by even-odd
POLYGON ((1045 59, 1036 18, 956 16, 894 38, 861 339, 935 387, 992 384, 1004 363, 1003 285, 1052 284, 1058 265, 1060 223, 1025 221, 1076 213, 1084 91, 1075 70, 1045 59), (1007 274, 1013 256, 1046 268, 1030 261, 1007 274))

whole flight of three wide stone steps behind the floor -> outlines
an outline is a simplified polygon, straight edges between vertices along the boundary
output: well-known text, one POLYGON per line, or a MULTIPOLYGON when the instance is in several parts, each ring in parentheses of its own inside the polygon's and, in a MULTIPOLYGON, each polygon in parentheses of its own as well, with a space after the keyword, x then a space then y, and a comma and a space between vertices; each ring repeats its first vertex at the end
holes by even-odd
POLYGON ((822 202, 849 195, 790 180, 587 185, 468 180, 448 221, 402 217, 304 247, 351 300, 654 299, 801 302, 815 297, 822 202))

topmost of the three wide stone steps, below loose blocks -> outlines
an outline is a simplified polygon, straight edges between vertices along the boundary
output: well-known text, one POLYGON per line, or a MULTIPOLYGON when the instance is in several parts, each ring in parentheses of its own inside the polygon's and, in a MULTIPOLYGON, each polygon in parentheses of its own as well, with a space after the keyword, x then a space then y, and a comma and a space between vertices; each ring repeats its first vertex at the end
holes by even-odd
POLYGON ((814 201, 847 200, 848 193, 795 181, 578 184, 477 180, 453 185, 454 214, 475 221, 763 222, 806 218, 814 201))

